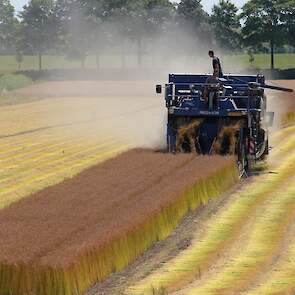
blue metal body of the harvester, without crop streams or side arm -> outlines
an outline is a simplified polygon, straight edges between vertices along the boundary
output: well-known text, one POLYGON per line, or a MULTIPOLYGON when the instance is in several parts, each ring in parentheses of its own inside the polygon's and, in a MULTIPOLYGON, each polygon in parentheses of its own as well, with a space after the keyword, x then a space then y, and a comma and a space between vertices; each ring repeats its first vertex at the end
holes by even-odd
POLYGON ((263 154, 258 147, 265 149, 268 141, 265 126, 262 129, 266 115, 264 76, 227 75, 218 79, 214 82, 214 103, 208 105, 204 93, 209 87, 210 97, 211 78, 210 75, 169 75, 169 83, 165 85, 168 151, 176 152, 178 131, 183 125, 201 119, 197 135, 199 149, 202 154, 210 154, 220 130, 240 120, 243 123, 239 132, 239 156, 263 154), (249 149, 250 139, 255 144, 252 149, 249 149))

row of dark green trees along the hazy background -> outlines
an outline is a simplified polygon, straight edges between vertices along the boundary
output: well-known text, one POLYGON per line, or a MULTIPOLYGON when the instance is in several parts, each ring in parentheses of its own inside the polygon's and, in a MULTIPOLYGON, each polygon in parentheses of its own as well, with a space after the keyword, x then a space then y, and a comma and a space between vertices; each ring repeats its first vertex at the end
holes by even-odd
POLYGON ((39 58, 65 54, 84 67, 88 55, 136 52, 137 62, 153 50, 196 54, 196 48, 223 52, 274 52, 295 46, 295 0, 250 0, 241 10, 220 0, 207 13, 201 0, 30 0, 15 13, 10 0, 0 0, 0 54, 39 58), (157 42, 155 42, 157 40, 157 42), (130 45, 132 44, 132 46, 130 45), (169 50, 168 50, 169 47, 169 50))

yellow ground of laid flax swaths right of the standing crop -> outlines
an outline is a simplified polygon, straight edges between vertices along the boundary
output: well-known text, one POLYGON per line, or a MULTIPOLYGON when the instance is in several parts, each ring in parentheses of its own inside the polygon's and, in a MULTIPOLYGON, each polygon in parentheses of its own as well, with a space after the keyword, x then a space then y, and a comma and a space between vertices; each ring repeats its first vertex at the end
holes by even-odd
POLYGON ((282 291, 294 290, 294 273, 290 272, 294 257, 289 257, 285 269, 289 277, 271 282, 265 275, 266 270, 281 267, 286 254, 282 249, 293 249, 294 135, 290 140, 291 144, 285 143, 287 154, 284 145, 283 151, 274 154, 282 162, 275 167, 276 173, 262 175, 236 192, 229 206, 208 222, 200 240, 128 293, 152 294, 162 289, 169 294, 288 294, 282 291))

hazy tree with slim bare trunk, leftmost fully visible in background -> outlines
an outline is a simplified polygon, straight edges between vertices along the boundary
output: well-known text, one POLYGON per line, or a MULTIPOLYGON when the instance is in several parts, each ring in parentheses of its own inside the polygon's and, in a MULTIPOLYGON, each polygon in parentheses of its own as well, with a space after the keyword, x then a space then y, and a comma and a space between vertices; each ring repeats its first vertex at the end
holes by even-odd
POLYGON ((58 19, 54 0, 31 0, 20 14, 22 44, 39 57, 39 71, 42 70, 42 55, 56 45, 58 19))

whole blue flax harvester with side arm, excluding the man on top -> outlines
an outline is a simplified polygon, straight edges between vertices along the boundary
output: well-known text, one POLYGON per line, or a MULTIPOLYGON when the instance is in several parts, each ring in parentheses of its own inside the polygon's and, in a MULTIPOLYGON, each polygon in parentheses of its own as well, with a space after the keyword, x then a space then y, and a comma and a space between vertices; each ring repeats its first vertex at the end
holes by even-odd
MULTIPOLYGON (((210 75, 170 74, 165 85, 167 150, 195 149, 211 154, 218 146, 221 154, 237 155, 240 171, 246 171, 251 161, 268 154, 268 127, 274 113, 266 111, 265 89, 293 92, 266 85, 263 75, 216 79, 210 75)), ((157 93, 161 92, 162 86, 157 85, 157 93)))

